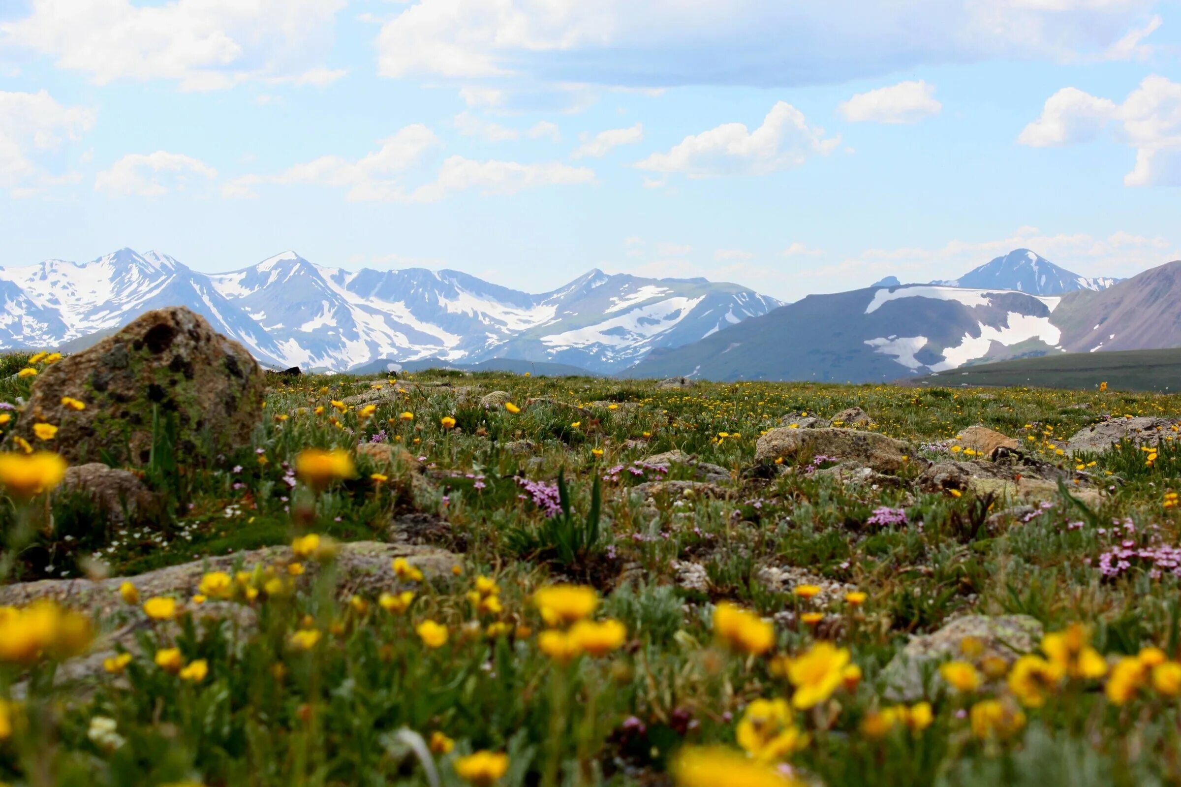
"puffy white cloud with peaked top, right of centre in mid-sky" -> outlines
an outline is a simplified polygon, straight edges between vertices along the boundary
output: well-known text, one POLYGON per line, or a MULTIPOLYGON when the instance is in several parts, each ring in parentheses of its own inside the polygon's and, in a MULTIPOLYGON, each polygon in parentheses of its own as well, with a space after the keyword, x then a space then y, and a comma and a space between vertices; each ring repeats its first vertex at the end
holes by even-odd
POLYGON ((692 178, 765 175, 828 155, 840 142, 840 136, 826 138, 824 129, 809 126, 803 112, 791 104, 778 102, 753 131, 744 123, 724 123, 690 135, 668 152, 652 154, 635 167, 692 178))

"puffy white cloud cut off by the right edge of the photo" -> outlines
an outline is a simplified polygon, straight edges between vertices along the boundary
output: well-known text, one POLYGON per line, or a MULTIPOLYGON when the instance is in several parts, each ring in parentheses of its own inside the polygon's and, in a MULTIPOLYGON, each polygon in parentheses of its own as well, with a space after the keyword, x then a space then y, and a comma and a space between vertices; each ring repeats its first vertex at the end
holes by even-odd
POLYGON ((1181 83, 1150 76, 1122 104, 1064 87, 1046 99, 1042 116, 1018 142, 1036 148, 1088 142, 1109 125, 1136 149, 1124 186, 1181 186, 1181 83))

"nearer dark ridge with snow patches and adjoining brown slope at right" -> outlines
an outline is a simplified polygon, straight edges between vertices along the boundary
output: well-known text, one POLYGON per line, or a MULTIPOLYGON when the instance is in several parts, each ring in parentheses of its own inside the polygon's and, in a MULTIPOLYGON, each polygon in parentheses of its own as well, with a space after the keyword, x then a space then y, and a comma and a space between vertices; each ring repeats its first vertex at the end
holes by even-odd
MULTIPOLYGON (((1045 284, 1071 281, 1078 278, 1045 284)), ((1176 346, 1181 260, 1059 295, 944 284, 809 295, 693 344, 653 350, 627 375, 888 382, 983 360, 1176 346)))

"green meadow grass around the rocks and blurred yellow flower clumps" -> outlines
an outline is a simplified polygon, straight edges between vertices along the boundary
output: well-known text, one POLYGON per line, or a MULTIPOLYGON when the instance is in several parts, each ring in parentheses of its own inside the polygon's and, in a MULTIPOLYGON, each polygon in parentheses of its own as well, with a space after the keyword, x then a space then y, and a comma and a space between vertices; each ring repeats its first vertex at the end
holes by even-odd
MULTIPOLYGON (((7 364, 11 373, 26 359, 0 359, 0 369, 7 364)), ((867 720, 893 707, 880 682, 886 664, 911 636, 960 614, 1029 614, 1048 631, 1081 622, 1113 663, 1144 646, 1179 656, 1177 579, 1138 558, 1115 577, 1098 564, 1125 541, 1136 548, 1181 541, 1179 508, 1166 505, 1181 487, 1181 449, 1166 443, 1149 466, 1134 447, 1069 458, 1055 441, 1103 414, 1176 415, 1181 395, 961 389, 939 381, 922 389, 659 390, 652 381, 431 371, 413 375, 405 395, 381 399, 364 418, 332 402, 389 385, 381 378, 274 377, 266 421, 249 444, 220 460, 177 456, 176 467, 149 468, 148 482, 170 501, 164 514, 115 526, 59 493, 47 522, 44 506, 5 500, 6 541, 34 526, 14 560, 20 578, 77 578, 96 570, 94 557, 111 575, 128 575, 288 544, 307 531, 383 540, 406 514, 442 523, 424 536, 429 542, 464 547, 463 574, 413 585, 404 612, 387 612, 366 591, 337 598, 331 564, 294 593, 265 587, 268 570, 275 579, 289 575, 286 564, 261 567, 260 580, 235 585, 229 604, 242 607, 237 617, 207 618, 211 607, 193 603, 197 588, 178 587, 172 593, 189 611, 177 625, 149 624, 122 606, 93 619, 104 635, 138 619, 139 645, 125 675, 99 672, 85 684, 68 677, 54 684, 52 659, 6 663, 0 643, 0 698, 14 696, 15 684, 26 697, 0 740, 0 782, 428 785, 413 735, 441 731, 456 747, 430 756, 445 787, 465 783, 457 757, 477 749, 508 754, 498 782, 505 787, 668 785, 665 769, 683 747, 736 748, 737 723, 753 700, 795 696, 774 656, 800 656, 826 639, 848 649, 862 679, 834 688, 816 708, 790 711, 810 742, 782 757, 820 783, 1082 783, 1078 774, 1104 785, 1177 783, 1177 701, 1149 683, 1116 704, 1102 681, 1062 681, 1044 705, 1023 709, 1026 723, 1012 737, 979 740, 968 708, 986 698, 1016 708, 1013 691, 996 681, 958 695, 934 676, 929 727, 895 726, 885 737, 864 731, 867 720), (491 390, 508 391, 521 412, 476 406, 491 390), (846 484, 805 471, 807 462, 788 461, 778 467, 792 471, 782 474, 756 464, 761 432, 784 414, 830 416, 850 405, 870 415, 870 429, 914 444, 913 464, 896 483, 846 484), (399 417, 406 411, 412 421, 399 417), (457 428, 446 429, 444 417, 457 428), (916 490, 919 466, 950 458, 944 443, 977 423, 1018 438, 1042 461, 1089 466, 1111 494, 1096 510, 1052 494, 1027 521, 990 523, 1006 501, 916 490), (301 450, 354 451, 383 434, 409 458, 385 467, 358 454, 355 476, 319 495, 293 486, 289 466, 301 450), (517 441, 533 448, 510 454, 505 445, 517 441), (664 475, 637 462, 672 449, 736 470, 735 479, 715 490, 642 500, 635 487, 664 475), (373 480, 377 471, 387 477, 373 480), (547 516, 522 499, 526 479, 562 479, 561 513, 547 516), (906 521, 874 523, 880 507, 902 509, 906 521), (694 566, 704 587, 684 581, 694 566), (843 592, 805 601, 790 586, 769 584, 769 567, 868 598, 860 607, 843 592), (496 609, 477 606, 477 575, 495 579, 496 609), (594 587, 595 617, 620 620, 626 642, 569 664, 547 656, 539 640, 546 623, 531 599, 556 581, 594 587), (731 652, 717 640, 711 618, 722 601, 774 619, 768 653, 731 652), (801 622, 804 611, 823 612, 815 629, 801 622), (253 623, 237 627, 240 617, 253 623), (446 626, 439 648, 416 632, 428 619, 446 626), (304 652, 291 638, 308 629, 320 639, 304 652), (205 659, 209 675, 190 683, 157 666, 155 651, 170 646, 185 663, 205 659), (96 741, 94 717, 113 720, 123 743, 96 741)), ((32 384, 0 376, 0 398, 27 397, 32 384)), ((668 477, 690 479, 692 470, 674 467, 668 477)))

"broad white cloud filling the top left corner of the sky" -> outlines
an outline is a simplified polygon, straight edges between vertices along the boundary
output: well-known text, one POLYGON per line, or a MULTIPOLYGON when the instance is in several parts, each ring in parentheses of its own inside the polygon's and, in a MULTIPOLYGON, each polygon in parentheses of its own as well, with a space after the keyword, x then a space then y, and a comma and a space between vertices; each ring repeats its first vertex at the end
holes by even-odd
POLYGON ((320 63, 344 0, 32 0, 0 43, 53 58, 98 84, 169 79, 217 90, 248 79, 322 85, 320 63))

